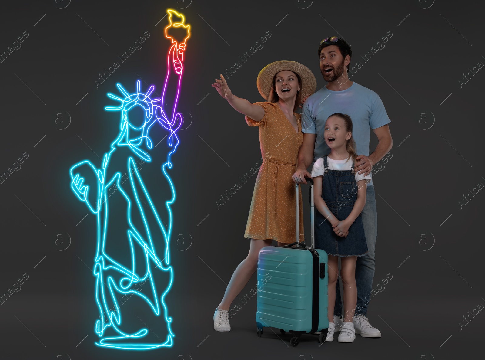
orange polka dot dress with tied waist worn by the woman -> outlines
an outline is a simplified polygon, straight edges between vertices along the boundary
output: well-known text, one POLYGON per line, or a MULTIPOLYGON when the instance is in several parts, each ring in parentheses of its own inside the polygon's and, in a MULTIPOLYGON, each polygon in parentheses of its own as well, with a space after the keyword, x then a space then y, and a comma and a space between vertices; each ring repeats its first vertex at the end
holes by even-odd
MULTIPOLYGON (((261 121, 246 116, 249 126, 259 126, 259 143, 263 164, 254 186, 245 238, 295 241, 295 183, 291 176, 296 170, 298 150, 303 142, 300 114, 295 114, 298 133, 277 103, 258 102, 264 109, 261 121)), ((303 240, 303 206, 301 191, 300 239, 303 240)))

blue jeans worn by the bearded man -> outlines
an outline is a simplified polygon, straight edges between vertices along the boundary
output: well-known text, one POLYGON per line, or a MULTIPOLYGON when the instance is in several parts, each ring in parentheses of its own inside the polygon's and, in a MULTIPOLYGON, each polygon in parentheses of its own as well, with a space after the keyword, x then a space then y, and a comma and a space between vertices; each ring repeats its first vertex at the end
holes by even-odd
MULTIPOLYGON (((371 299, 372 281, 375 271, 375 240, 377 238, 377 209, 375 207, 375 192, 373 186, 367 186, 367 195, 362 214, 362 224, 367 240, 369 252, 357 257, 356 285, 357 285, 357 314, 367 315, 367 305, 371 299)), ((340 297, 340 285, 337 281, 335 286, 334 315, 342 315, 342 299, 340 297)))

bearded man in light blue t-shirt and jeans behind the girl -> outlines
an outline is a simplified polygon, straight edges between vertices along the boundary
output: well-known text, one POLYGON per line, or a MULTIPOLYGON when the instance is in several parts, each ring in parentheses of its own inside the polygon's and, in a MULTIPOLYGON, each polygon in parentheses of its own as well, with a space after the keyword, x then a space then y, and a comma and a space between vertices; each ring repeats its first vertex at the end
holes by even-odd
MULTIPOLYGON (((324 39, 318 48, 320 71, 326 86, 311 95, 303 105, 303 143, 298 152, 298 166, 293 180, 306 184, 310 177, 307 168, 318 159, 330 153, 323 138, 323 127, 327 118, 334 113, 344 113, 351 117, 356 141, 359 174, 369 174, 372 166, 380 161, 392 148, 392 137, 386 109, 379 96, 349 80, 347 72, 352 57, 352 49, 345 40, 336 36, 324 39), (369 155, 370 129, 379 139, 379 144, 369 155)), ((356 284, 357 306, 354 315, 356 334, 363 337, 381 337, 379 330, 369 324, 367 305, 371 299, 372 281, 375 270, 375 240, 377 237, 377 210, 372 180, 367 184, 367 200, 362 210, 362 222, 369 253, 357 258, 356 284)), ((334 309, 335 331, 342 325, 342 301, 339 282, 336 286, 334 309)))

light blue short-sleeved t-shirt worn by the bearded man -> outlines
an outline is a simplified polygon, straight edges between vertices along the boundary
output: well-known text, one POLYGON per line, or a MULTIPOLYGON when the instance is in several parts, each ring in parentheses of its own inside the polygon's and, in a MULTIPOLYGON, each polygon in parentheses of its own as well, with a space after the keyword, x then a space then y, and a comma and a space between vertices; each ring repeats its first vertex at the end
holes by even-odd
MULTIPOLYGON (((369 156, 371 129, 384 126, 391 121, 381 98, 374 91, 356 82, 350 88, 341 91, 323 87, 305 101, 302 110, 302 132, 317 134, 313 163, 330 153, 323 138, 324 125, 330 115, 338 112, 347 114, 352 119, 352 136, 356 142, 357 155, 369 156)), ((368 186, 372 185, 371 180, 368 186)))

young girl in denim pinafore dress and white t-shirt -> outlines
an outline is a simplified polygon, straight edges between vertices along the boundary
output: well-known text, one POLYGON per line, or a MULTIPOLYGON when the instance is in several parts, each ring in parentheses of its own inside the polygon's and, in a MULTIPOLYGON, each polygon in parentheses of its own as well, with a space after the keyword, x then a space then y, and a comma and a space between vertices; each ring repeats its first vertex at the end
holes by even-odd
POLYGON ((356 145, 352 138, 352 120, 336 113, 325 122, 324 139, 331 152, 313 165, 315 184, 315 247, 328 256, 328 320, 326 341, 333 341, 335 331, 335 284, 339 277, 339 257, 343 281, 345 316, 338 341, 352 343, 356 338, 354 312, 357 302, 357 256, 368 252, 362 217, 366 187, 371 176, 354 171, 356 145))

